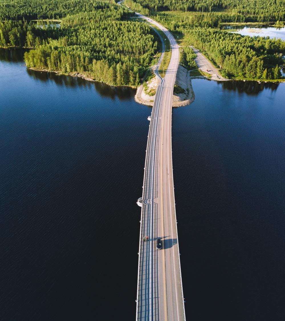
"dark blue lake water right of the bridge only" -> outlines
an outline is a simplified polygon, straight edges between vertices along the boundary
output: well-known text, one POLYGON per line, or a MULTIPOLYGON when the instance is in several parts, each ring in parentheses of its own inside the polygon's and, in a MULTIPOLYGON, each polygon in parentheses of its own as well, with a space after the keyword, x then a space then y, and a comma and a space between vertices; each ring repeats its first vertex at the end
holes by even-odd
POLYGON ((285 320, 285 83, 192 82, 173 109, 188 320, 285 320))

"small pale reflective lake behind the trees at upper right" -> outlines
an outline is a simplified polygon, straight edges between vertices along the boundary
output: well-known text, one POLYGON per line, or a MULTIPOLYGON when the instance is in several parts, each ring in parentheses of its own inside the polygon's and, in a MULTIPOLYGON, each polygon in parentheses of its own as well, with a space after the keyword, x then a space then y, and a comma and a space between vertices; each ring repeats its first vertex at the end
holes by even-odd
POLYGON ((279 38, 282 40, 285 40, 285 27, 270 27, 270 26, 258 26, 258 25, 246 25, 246 26, 240 26, 240 25, 230 25, 230 26, 224 26, 224 29, 231 30, 235 29, 237 31, 233 31, 236 33, 240 33, 243 36, 260 36, 260 37, 269 37, 271 39, 273 38, 279 38))

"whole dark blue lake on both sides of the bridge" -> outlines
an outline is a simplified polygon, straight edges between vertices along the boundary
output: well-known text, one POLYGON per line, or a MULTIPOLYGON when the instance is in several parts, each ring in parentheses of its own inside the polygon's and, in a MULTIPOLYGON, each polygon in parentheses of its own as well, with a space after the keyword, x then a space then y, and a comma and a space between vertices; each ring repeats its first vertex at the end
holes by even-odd
MULTIPOLYGON (((134 320, 147 116, 135 91, 0 51, 1 320, 134 320)), ((173 109, 188 320, 284 320, 285 84, 173 109)))

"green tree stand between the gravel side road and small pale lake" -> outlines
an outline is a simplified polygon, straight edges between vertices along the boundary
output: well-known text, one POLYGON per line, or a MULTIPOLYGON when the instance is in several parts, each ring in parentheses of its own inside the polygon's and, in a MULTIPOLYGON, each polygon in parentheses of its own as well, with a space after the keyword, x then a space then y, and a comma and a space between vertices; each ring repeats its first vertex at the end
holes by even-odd
POLYGON ((225 77, 280 79, 285 41, 250 37, 218 29, 185 31, 185 40, 206 54, 225 77))

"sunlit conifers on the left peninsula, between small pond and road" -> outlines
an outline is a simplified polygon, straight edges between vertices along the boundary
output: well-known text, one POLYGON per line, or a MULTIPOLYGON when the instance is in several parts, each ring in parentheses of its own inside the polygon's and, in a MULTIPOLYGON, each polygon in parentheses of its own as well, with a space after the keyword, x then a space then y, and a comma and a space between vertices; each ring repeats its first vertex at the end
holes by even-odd
POLYGON ((36 48, 25 53, 25 62, 50 71, 84 73, 112 85, 136 86, 157 43, 145 23, 125 21, 128 14, 110 4, 91 13, 68 15, 50 38, 40 42, 34 38, 36 48))

